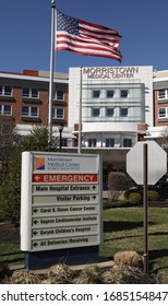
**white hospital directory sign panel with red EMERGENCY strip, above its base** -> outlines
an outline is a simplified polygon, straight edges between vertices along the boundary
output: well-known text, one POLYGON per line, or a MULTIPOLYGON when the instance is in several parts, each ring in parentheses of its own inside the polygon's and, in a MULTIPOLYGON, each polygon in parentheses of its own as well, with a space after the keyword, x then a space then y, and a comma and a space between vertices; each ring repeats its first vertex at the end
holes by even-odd
POLYGON ((24 152, 21 249, 99 245, 101 231, 99 155, 24 152))

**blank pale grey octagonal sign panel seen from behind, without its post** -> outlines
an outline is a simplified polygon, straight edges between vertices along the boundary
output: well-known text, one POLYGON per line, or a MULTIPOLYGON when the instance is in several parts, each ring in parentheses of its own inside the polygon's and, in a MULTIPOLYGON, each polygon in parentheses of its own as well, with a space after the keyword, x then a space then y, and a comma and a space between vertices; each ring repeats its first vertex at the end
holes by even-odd
POLYGON ((127 154, 127 173, 143 185, 143 146, 147 143, 148 185, 155 185, 167 172, 167 154, 156 141, 140 141, 127 154))

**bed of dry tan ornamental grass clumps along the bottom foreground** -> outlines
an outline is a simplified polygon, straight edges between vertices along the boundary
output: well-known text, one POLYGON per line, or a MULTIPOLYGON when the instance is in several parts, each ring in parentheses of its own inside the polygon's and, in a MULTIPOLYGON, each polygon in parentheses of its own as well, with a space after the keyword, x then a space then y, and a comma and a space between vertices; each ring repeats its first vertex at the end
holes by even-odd
POLYGON ((155 273, 144 273, 141 258, 134 251, 120 252, 110 264, 69 267, 55 264, 47 270, 8 270, 0 267, 3 284, 159 284, 155 273), (127 260, 125 260, 127 259, 127 260), (3 269, 3 270, 2 270, 3 269))

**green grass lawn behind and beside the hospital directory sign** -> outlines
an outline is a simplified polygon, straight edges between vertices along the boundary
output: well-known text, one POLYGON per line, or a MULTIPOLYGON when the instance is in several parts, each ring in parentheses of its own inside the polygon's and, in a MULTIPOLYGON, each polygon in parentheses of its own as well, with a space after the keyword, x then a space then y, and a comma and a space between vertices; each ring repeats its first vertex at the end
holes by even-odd
MULTIPOLYGON (((143 255, 143 208, 104 210, 104 243, 100 257, 112 259, 118 251, 134 250, 143 255)), ((156 271, 168 284, 168 208, 148 208, 149 270, 156 271)), ((19 245, 0 244, 0 261, 9 266, 24 262, 19 245)))

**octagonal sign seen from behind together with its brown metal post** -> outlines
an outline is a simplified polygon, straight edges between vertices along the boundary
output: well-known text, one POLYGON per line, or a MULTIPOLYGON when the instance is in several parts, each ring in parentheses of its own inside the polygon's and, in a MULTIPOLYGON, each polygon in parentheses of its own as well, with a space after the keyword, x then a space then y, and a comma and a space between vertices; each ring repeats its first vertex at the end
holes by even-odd
POLYGON ((148 273, 148 185, 155 185, 167 172, 167 154, 155 141, 137 142, 127 154, 127 172, 143 185, 144 207, 144 272, 148 273), (161 163, 157 163, 157 161, 161 163))

